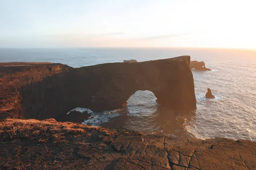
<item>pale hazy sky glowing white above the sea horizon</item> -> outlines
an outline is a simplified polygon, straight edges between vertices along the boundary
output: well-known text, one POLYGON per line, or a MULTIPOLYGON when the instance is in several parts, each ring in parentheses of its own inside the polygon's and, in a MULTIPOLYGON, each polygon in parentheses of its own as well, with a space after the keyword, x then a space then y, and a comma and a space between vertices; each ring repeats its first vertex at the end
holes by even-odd
POLYGON ((0 0, 0 48, 256 49, 255 0, 0 0))

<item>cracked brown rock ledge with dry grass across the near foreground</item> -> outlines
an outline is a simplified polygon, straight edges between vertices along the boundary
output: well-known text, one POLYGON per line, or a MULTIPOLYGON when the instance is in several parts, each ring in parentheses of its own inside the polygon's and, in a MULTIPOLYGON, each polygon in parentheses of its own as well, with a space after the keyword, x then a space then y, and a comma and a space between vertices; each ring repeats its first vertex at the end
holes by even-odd
POLYGON ((0 122, 0 169, 254 170, 256 143, 174 139, 70 122, 0 122))

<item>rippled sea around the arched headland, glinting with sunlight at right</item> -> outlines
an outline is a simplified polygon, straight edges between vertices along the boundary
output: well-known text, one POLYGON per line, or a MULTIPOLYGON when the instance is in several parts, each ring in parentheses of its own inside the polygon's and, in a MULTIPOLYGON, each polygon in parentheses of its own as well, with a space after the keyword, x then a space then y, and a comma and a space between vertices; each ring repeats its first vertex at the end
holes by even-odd
MULTIPOLYGON (((200 48, 0 48, 0 62, 55 62, 79 68, 106 62, 138 62, 190 55, 212 71, 192 70, 197 110, 172 111, 151 91, 137 91, 124 109, 92 112, 84 124, 124 127, 176 138, 256 141, 256 51, 200 48), (206 99, 207 88, 215 99, 206 99)), ((170 94, 172 95, 172 94, 170 94)), ((78 111, 87 108, 75 108, 78 111)))

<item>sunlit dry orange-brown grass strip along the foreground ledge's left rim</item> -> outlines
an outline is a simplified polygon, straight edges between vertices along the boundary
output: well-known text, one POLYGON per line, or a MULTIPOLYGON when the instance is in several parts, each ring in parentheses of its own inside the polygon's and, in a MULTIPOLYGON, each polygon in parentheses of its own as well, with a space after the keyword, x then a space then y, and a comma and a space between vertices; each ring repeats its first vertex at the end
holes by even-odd
MULTIPOLYGON (((5 119, 0 122, 0 139, 29 139, 39 142, 60 141, 67 136, 79 136, 84 133, 101 133, 109 136, 109 130, 71 122, 57 122, 55 119, 5 119)), ((103 135, 104 135, 103 134, 103 135)))

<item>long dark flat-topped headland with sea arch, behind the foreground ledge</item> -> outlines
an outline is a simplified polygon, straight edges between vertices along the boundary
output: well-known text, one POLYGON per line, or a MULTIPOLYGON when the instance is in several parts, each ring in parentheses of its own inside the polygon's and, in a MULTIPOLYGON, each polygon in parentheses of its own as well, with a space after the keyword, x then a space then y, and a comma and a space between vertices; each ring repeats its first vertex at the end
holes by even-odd
POLYGON ((62 64, 0 64, 2 118, 55 118, 81 107, 119 109, 138 90, 149 90, 160 105, 196 109, 190 57, 147 62, 106 63, 82 68, 62 64))

